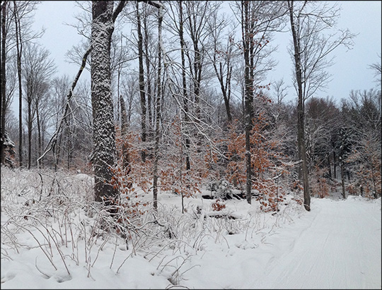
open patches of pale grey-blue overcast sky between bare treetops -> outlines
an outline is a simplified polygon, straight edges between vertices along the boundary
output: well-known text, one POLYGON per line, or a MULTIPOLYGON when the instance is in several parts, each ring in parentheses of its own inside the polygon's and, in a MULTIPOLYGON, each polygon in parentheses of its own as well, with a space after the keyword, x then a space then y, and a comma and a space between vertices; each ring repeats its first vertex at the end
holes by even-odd
MULTIPOLYGON (((338 28, 349 28, 358 33, 354 47, 347 51, 339 47, 334 52, 335 64, 328 70, 332 81, 326 92, 318 92, 318 97, 334 97, 336 100, 348 97, 351 90, 369 90, 376 87, 374 71, 369 65, 380 62, 381 56, 381 3, 382 1, 339 1, 342 6, 338 28)), ((40 42, 50 50, 57 64, 59 75, 64 73, 72 78, 78 66, 65 61, 66 52, 81 40, 76 29, 64 23, 76 23, 74 15, 78 12, 74 1, 42 1, 35 13, 34 29, 46 28, 40 42)), ((284 78, 291 85, 291 58, 287 54, 289 33, 278 37, 279 52, 273 55, 279 61, 274 72, 270 73, 270 82, 284 78)), ((294 90, 289 90, 287 99, 295 99, 294 90)))

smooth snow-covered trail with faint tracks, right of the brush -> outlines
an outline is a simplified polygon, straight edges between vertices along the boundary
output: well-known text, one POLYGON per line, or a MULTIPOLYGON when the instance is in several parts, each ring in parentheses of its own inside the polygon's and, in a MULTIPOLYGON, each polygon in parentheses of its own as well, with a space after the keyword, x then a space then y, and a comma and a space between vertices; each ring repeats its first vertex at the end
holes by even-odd
POLYGON ((357 198, 312 200, 309 215, 311 224, 253 284, 260 289, 381 289, 381 205, 357 198))

